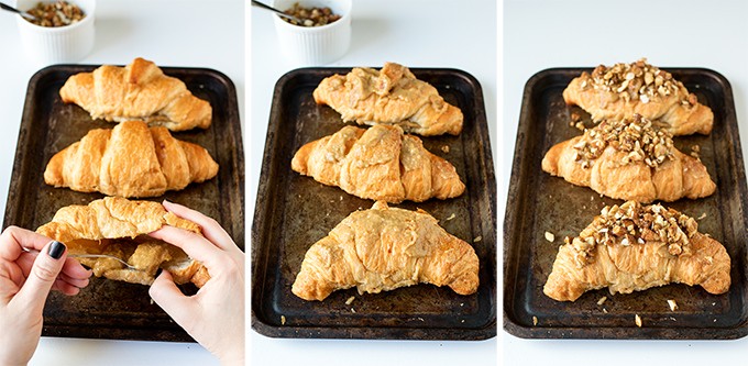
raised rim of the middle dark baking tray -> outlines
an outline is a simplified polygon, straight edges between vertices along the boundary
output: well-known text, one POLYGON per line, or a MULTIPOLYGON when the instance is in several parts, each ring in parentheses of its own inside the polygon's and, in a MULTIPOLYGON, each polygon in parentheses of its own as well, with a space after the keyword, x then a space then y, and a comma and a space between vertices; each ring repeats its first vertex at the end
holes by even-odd
MULTIPOLYGON (((329 70, 331 74, 334 73, 348 73, 351 70, 351 67, 305 67, 305 68, 297 68, 294 70, 290 70, 283 75, 278 81, 275 84, 274 88, 274 93, 273 93, 273 100, 275 100, 278 97, 278 93, 280 92, 279 86, 286 84, 288 80, 297 77, 298 75, 302 75, 307 70, 329 70)), ((477 100, 481 100, 484 102, 483 99, 483 89, 481 87, 480 81, 472 76, 471 74, 460 70, 460 69, 454 69, 454 68, 410 68, 411 70, 415 70, 416 73, 418 70, 439 70, 439 71, 449 71, 457 75, 460 75, 461 77, 468 79, 468 81, 471 85, 474 85, 475 88, 475 93, 480 98, 476 98, 477 100)), ((477 104, 477 101, 474 100, 473 103, 477 104)), ((476 129, 481 131, 485 136, 488 136, 488 123, 487 123, 487 117, 486 117, 486 111, 485 111, 485 106, 477 106, 479 108, 475 108, 475 121, 476 121, 476 129)), ((274 175, 275 171, 273 171, 273 164, 271 164, 270 159, 266 159, 265 156, 268 156, 268 154, 272 154, 276 146, 279 144, 277 140, 277 133, 276 130, 280 127, 279 123, 273 123, 273 121, 278 121, 277 117, 278 111, 277 110, 272 110, 271 115, 270 115, 270 121, 268 121, 268 129, 267 133, 265 136, 265 149, 263 152, 263 160, 262 160, 262 168, 260 173, 260 177, 268 177, 271 175, 274 175)), ((496 173, 494 170, 494 164, 493 164, 493 155, 491 153, 491 142, 486 142, 483 144, 483 153, 485 156, 487 156, 485 164, 485 169, 488 173, 486 175, 486 184, 487 184, 487 189, 493 188, 493 195, 490 197, 490 210, 492 210, 492 214, 490 215, 491 218, 495 218, 495 213, 493 211, 496 210, 496 173)), ((256 240, 260 236, 260 232, 267 230, 267 225, 270 224, 270 220, 265 220, 265 218, 258 217, 258 212, 261 212, 260 208, 263 208, 264 210, 267 210, 272 207, 275 206, 275 197, 272 197, 268 195, 270 191, 270 186, 268 185, 258 185, 257 187, 257 197, 256 197, 256 206, 255 206, 255 212, 254 212, 254 219, 252 222, 252 239, 251 243, 256 243, 256 240), (260 220, 258 220, 260 219, 260 220)), ((494 220, 493 221, 493 235, 494 235, 494 255, 491 256, 491 258, 487 258, 490 260, 490 265, 493 266, 492 268, 494 269, 491 271, 490 276, 492 276, 493 281, 496 282, 496 232, 497 232, 497 223, 494 220)), ((433 329, 404 329, 404 328, 329 328, 329 326, 276 326, 276 325, 271 325, 265 323, 260 317, 254 311, 254 307, 252 306, 254 303, 255 296, 257 295, 257 290, 262 292, 262 286, 257 286, 258 288, 255 287, 255 284, 258 284, 256 280, 258 277, 257 276, 263 276, 262 274, 258 274, 257 268, 264 268, 264 266, 260 266, 256 264, 256 260, 258 258, 267 258, 266 252, 270 251, 270 247, 263 246, 262 248, 262 254, 260 253, 261 249, 257 248, 257 245, 252 245, 251 248, 251 260, 252 260, 252 299, 250 300, 250 308, 251 308, 251 328, 256 331, 257 333, 270 336, 270 337, 286 337, 286 339, 378 339, 378 340, 414 340, 414 341, 483 341, 483 340, 490 340, 496 336, 497 334, 497 315, 496 315, 496 290, 497 290, 497 285, 494 286, 492 289, 493 293, 493 303, 494 303, 494 311, 492 319, 488 320, 487 324, 483 328, 480 329, 468 329, 468 330, 454 330, 454 329, 439 329, 439 328, 433 328, 433 329)))

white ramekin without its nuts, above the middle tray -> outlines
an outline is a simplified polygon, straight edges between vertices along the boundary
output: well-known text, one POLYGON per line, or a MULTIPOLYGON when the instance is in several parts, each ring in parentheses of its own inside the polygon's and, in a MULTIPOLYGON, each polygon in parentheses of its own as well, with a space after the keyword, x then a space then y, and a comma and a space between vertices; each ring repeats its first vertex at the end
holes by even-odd
POLYGON ((305 8, 330 8, 341 19, 322 26, 290 24, 279 15, 275 18, 275 32, 283 56, 295 66, 318 66, 342 57, 351 45, 352 0, 274 0, 273 7, 286 10, 298 2, 305 8))

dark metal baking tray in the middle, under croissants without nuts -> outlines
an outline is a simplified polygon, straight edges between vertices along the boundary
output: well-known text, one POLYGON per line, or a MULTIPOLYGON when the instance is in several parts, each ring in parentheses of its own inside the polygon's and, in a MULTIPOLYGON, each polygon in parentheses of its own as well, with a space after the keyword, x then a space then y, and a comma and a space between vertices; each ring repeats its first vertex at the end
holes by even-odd
POLYGON ((496 335, 496 186, 483 95, 479 81, 455 69, 413 69, 464 113, 459 136, 422 138, 430 152, 448 159, 466 184, 450 200, 397 207, 421 208, 451 234, 472 243, 480 258, 477 293, 419 285, 359 296, 333 292, 324 301, 304 301, 290 291, 305 253, 351 212, 373 204, 323 186, 290 169, 305 143, 334 133, 340 114, 317 106, 317 85, 350 68, 293 70, 276 84, 257 204, 252 225, 252 328, 274 337, 482 340, 496 335), (449 153, 441 149, 449 146, 449 153), (454 219, 448 220, 454 214, 454 219), (473 242, 473 239, 481 240, 473 242), (346 299, 355 297, 350 306, 346 299), (285 319, 285 324, 282 321, 285 319))

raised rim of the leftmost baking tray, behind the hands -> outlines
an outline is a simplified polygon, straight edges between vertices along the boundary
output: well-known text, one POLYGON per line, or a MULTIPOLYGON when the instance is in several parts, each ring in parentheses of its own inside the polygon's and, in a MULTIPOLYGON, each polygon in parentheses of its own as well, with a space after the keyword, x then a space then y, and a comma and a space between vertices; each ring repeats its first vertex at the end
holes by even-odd
MULTIPOLYGON (((26 86, 26 96, 24 98, 24 106, 23 106, 23 113, 21 115, 21 123, 19 123, 19 136, 16 140, 16 144, 25 144, 30 140, 32 140, 32 136, 29 135, 30 133, 30 121, 32 121, 32 115, 35 113, 35 110, 31 102, 34 99, 34 92, 29 92, 31 88, 35 88, 35 86, 38 85, 40 81, 42 81, 44 78, 50 77, 51 74, 57 73, 57 69, 59 68, 68 68, 68 69, 78 69, 79 71, 86 71, 94 69, 96 67, 99 67, 101 65, 78 65, 78 64, 59 64, 59 65, 52 65, 44 67, 40 69, 38 71, 34 73, 34 75, 29 79, 29 84, 26 86)), ((198 67, 160 67, 162 70, 165 71, 165 74, 168 74, 170 70, 179 70, 180 73, 196 73, 196 74, 201 74, 201 75, 209 75, 213 77, 215 79, 219 80, 220 82, 223 84, 223 86, 227 89, 228 93, 228 99, 227 99, 227 104, 229 106, 229 109, 226 111, 227 112, 227 121, 228 124, 230 125, 231 131, 233 132, 234 135, 234 143, 235 143, 235 152, 234 152, 234 158, 233 162, 235 162, 235 165, 233 166, 233 174, 235 175, 233 178, 237 179, 238 187, 235 188, 239 192, 239 198, 237 199, 237 202, 233 200, 230 202, 234 209, 232 209, 233 212, 239 212, 241 215, 241 220, 238 220, 238 223, 234 223, 234 237, 237 240, 237 245, 242 249, 245 251, 245 230, 244 230, 244 149, 243 149, 243 138, 242 138, 242 132, 241 132, 241 121, 239 118, 239 104, 238 104, 238 99, 237 99, 237 88, 233 84, 233 81, 223 73, 218 71, 216 69, 210 69, 210 68, 198 68, 198 67)), ((11 171, 10 175, 10 185, 8 189, 8 198, 6 199, 6 212, 3 217, 3 224, 2 228, 7 228, 9 225, 8 218, 9 217, 18 217, 20 210, 19 207, 13 208, 8 202, 11 202, 12 200, 15 200, 15 197, 19 195, 18 192, 21 191, 22 187, 24 186, 25 179, 20 179, 22 177, 28 177, 29 175, 25 174, 25 171, 29 169, 24 164, 21 164, 23 162, 28 162, 25 157, 31 153, 30 148, 15 148, 15 157, 13 158, 13 170, 11 171)), ((141 328, 112 328, 112 326, 97 326, 97 328, 80 328, 80 326, 75 326, 75 325, 66 325, 66 324, 44 324, 43 326, 43 335, 44 336, 61 336, 61 337, 86 337, 86 339, 117 339, 117 340, 132 340, 132 341, 166 341, 166 342, 196 342, 189 334, 187 334, 184 329, 180 326, 176 326, 174 329, 141 329, 141 328), (111 334, 118 334, 117 337, 111 337, 111 334)))

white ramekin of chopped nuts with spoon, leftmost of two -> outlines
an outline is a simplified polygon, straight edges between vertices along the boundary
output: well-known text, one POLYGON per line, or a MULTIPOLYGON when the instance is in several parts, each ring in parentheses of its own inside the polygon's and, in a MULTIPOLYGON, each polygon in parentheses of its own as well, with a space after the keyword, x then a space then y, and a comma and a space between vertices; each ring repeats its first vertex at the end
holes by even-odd
POLYGON ((16 0, 15 7, 33 15, 16 15, 21 44, 40 65, 74 63, 94 48, 96 0, 16 0))

